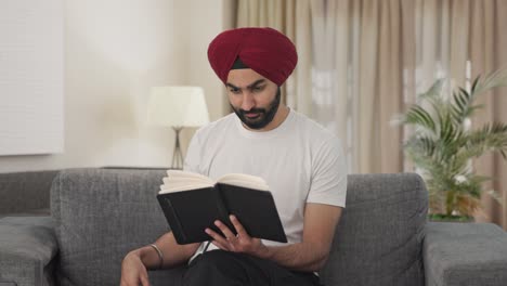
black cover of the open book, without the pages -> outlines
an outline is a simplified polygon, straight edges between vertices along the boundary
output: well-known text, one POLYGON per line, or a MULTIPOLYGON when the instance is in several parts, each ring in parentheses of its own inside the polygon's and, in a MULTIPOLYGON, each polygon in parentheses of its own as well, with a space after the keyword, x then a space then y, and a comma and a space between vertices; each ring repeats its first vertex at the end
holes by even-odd
POLYGON ((286 243, 282 222, 271 192, 218 183, 214 187, 172 192, 157 199, 178 244, 210 240, 210 227, 220 233, 220 220, 235 232, 229 214, 235 214, 252 237, 286 243))

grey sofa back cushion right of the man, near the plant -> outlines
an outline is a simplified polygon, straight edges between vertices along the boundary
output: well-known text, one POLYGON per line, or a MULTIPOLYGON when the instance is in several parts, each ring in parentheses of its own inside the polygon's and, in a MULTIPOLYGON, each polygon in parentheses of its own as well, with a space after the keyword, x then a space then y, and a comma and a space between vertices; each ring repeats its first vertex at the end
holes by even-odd
POLYGON ((417 174, 349 176, 324 284, 424 285, 427 197, 417 174))

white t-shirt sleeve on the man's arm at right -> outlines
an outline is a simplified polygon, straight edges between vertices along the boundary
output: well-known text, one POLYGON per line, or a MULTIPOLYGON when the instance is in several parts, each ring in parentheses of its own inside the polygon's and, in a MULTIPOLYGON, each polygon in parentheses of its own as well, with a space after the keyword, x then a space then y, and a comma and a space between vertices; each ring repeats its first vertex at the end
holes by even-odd
POLYGON ((324 141, 312 160, 312 180, 307 203, 344 207, 347 160, 340 140, 333 136, 324 141))

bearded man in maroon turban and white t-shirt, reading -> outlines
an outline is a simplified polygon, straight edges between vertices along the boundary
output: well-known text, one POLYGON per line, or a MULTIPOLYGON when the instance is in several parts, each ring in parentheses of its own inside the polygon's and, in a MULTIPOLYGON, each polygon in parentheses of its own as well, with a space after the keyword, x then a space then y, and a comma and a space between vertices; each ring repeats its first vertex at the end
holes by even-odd
MULTIPOLYGON (((271 28, 227 30, 208 58, 227 88, 234 114, 199 129, 185 169, 211 178, 242 172, 263 178, 273 193, 288 244, 250 237, 216 221, 211 245, 178 245, 172 233, 129 252, 121 285, 148 285, 146 269, 191 260, 184 285, 318 285, 335 225, 344 207, 347 172, 339 140, 281 102, 297 63, 296 48, 271 28), (207 249, 205 249, 207 248, 207 249)), ((259 210, 262 211, 262 210, 259 210)))

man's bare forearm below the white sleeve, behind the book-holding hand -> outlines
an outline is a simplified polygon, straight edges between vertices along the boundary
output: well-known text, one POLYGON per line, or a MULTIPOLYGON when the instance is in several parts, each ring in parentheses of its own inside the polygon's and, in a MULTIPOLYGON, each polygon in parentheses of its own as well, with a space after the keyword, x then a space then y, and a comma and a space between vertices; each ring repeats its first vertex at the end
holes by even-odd
POLYGON ((296 271, 318 271, 327 259, 327 251, 315 245, 299 243, 288 246, 266 246, 262 258, 296 271))

